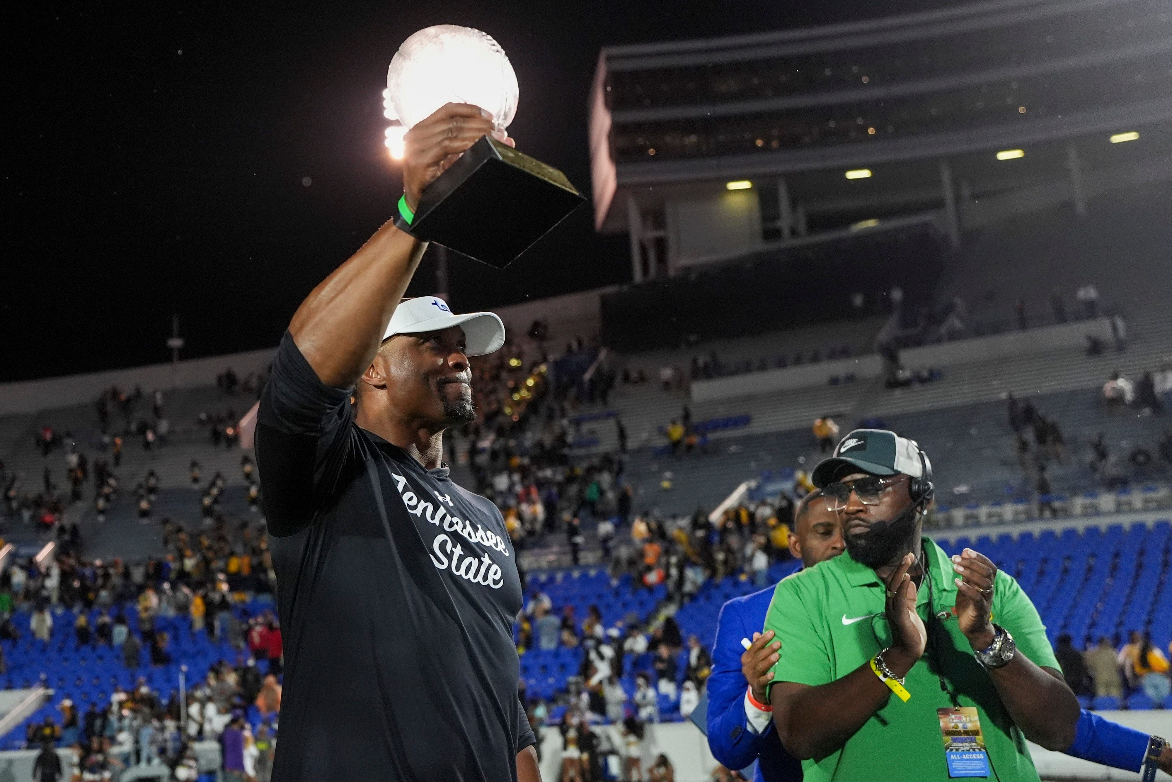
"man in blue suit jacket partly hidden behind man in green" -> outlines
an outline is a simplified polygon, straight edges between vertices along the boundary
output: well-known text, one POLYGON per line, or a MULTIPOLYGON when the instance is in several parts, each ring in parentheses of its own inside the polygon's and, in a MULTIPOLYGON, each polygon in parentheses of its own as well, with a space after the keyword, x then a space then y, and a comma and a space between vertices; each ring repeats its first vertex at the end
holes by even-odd
MULTIPOLYGON (((837 557, 845 548, 838 517, 826 510, 825 503, 813 502, 819 496, 820 490, 813 491, 793 511, 790 553, 803 567, 837 557)), ((795 563, 793 570, 798 567, 795 563)), ((713 673, 707 684, 708 747, 725 768, 745 769, 757 761, 755 782, 799 782, 802 763, 782 747, 764 698, 765 684, 772 675, 770 668, 781 646, 772 640, 772 632, 761 634, 774 589, 734 598, 721 608, 713 644, 713 673), (751 639, 748 650, 743 639, 751 639), (750 681, 757 686, 750 688, 750 681), (754 691, 757 691, 756 698, 754 691)), ((1172 774, 1172 748, 1163 739, 1110 722, 1085 709, 1075 728, 1075 742, 1064 752, 1103 766, 1132 771, 1151 768, 1152 773, 1159 768, 1172 774)))

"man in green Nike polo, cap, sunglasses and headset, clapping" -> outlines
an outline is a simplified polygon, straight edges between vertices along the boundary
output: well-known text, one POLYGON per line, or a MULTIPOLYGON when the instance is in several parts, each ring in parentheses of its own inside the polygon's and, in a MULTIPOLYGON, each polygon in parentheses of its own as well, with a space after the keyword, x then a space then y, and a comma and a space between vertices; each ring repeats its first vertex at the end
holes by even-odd
POLYGON ((765 620, 774 722, 805 778, 1037 780, 1026 739, 1069 747, 1078 701, 1017 582, 921 536, 927 457, 858 429, 811 478, 846 553, 778 584, 765 620))

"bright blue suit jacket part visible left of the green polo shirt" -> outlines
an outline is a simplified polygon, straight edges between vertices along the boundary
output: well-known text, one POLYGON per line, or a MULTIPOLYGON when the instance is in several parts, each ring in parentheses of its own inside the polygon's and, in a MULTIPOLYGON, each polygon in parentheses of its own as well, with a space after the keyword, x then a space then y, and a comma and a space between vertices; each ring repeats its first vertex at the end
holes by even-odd
POLYGON ((713 673, 708 676, 708 747, 725 768, 743 769, 758 761, 754 780, 799 782, 802 763, 782 747, 770 725, 761 735, 749 729, 744 693, 749 687, 741 673, 742 638, 752 638, 765 626, 774 587, 734 598, 721 608, 713 644, 713 673))

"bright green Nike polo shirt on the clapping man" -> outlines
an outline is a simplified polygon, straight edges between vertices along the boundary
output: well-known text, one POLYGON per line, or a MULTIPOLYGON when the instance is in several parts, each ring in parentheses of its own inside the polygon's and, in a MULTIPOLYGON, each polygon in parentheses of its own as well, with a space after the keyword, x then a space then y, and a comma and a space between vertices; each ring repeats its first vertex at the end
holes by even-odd
MULTIPOLYGON (((1038 777, 1026 737, 1006 712, 989 674, 974 659, 956 621, 958 591, 953 580, 956 573, 952 560, 928 538, 924 538, 924 550, 932 576, 932 611, 946 614, 939 624, 947 631, 947 638, 945 633, 935 634, 936 658, 945 681, 961 706, 977 709, 992 778, 1034 782, 1038 777)), ((928 592, 928 579, 924 579, 918 610, 925 620, 928 592)), ((765 630, 772 630, 782 641, 774 681, 825 685, 865 665, 891 645, 885 603, 885 586, 875 572, 846 553, 784 579, 774 591, 765 618, 765 630)), ((1000 571, 993 619, 1013 634, 1020 654, 1036 665, 1061 671, 1034 604, 1011 576, 1000 571)), ((952 706, 952 701, 940 688, 927 654, 912 667, 906 682, 911 700, 905 703, 888 698, 841 749, 817 762, 803 761, 806 782, 948 780, 936 709, 952 706)))

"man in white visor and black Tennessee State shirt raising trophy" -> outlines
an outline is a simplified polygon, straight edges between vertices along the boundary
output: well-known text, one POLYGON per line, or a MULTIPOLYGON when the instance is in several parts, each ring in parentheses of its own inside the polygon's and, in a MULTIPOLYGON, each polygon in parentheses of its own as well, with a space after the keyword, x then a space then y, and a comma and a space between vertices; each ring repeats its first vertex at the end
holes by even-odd
POLYGON ((273 360, 255 437, 285 635, 273 782, 540 778, 516 553, 500 511, 441 462, 444 429, 476 415, 469 356, 504 326, 403 300, 427 246, 416 213, 450 220, 451 193, 511 149, 469 103, 413 123, 395 222, 305 299, 273 360), (478 168, 432 188, 478 143, 478 168))

